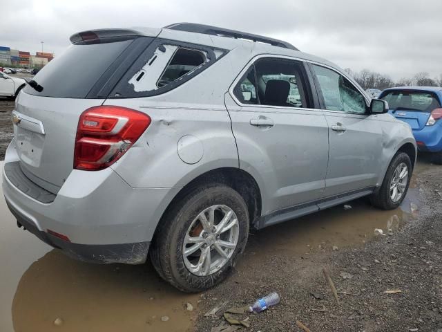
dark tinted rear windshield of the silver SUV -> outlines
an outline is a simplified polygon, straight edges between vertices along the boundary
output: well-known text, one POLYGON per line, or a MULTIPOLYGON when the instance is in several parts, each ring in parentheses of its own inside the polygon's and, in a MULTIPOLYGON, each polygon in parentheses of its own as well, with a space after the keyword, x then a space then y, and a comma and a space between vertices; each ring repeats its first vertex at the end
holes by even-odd
POLYGON ((26 86, 31 95, 59 98, 85 98, 90 89, 123 50, 133 42, 71 45, 59 57, 44 66, 34 80, 43 91, 26 86))

